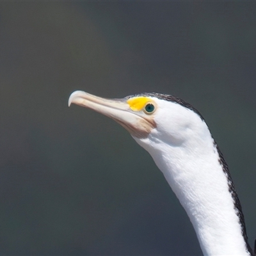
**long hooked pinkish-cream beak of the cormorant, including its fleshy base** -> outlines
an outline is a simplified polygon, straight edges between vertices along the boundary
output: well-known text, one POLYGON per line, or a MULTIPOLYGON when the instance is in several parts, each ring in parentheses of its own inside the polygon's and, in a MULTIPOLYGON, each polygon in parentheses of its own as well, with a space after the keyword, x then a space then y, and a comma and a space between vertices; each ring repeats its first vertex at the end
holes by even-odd
POLYGON ((125 99, 104 99, 86 92, 76 91, 68 99, 68 106, 72 103, 93 109, 112 118, 136 138, 147 138, 152 129, 156 128, 153 116, 145 116, 132 111, 125 99))

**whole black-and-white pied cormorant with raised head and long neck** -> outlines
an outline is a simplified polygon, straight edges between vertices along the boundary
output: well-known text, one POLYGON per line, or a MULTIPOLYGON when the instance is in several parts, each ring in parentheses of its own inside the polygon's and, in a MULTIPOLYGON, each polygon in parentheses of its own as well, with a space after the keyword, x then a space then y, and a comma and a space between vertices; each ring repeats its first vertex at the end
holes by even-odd
POLYGON ((255 255, 227 163, 195 108, 161 93, 103 99, 76 91, 72 103, 113 118, 148 151, 188 213, 204 255, 255 255))

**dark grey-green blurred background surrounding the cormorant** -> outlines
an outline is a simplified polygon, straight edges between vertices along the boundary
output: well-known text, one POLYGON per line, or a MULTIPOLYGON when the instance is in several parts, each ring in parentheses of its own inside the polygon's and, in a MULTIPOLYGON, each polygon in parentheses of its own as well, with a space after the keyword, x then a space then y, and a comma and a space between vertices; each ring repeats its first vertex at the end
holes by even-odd
POLYGON ((151 157, 74 90, 178 96, 256 237, 256 3, 0 3, 0 255, 202 255, 151 157))

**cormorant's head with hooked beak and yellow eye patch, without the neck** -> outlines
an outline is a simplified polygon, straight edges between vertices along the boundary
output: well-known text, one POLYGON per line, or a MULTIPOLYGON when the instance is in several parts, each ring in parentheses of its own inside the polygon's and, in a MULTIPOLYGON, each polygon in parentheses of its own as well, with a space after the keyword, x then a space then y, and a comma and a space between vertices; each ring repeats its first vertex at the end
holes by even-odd
POLYGON ((68 106, 72 103, 113 118, 146 150, 150 145, 155 147, 157 141, 177 147, 204 132, 200 113, 171 95, 140 93, 124 99, 104 99, 76 91, 68 99, 68 106))

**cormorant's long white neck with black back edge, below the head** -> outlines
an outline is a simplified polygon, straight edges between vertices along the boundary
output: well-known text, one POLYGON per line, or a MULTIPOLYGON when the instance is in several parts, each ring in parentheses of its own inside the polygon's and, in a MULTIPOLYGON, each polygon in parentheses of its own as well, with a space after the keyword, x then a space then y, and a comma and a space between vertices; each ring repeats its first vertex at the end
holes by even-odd
POLYGON ((239 199, 211 133, 178 146, 152 141, 153 147, 141 146, 188 213, 204 255, 252 255, 239 199))

